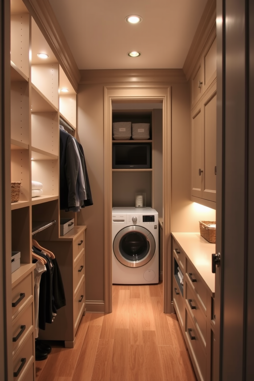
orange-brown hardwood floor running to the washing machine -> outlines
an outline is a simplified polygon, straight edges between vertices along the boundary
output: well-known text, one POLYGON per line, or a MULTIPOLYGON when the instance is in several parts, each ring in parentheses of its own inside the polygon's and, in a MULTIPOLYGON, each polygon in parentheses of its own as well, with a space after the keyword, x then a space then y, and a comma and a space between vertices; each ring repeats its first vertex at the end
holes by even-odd
POLYGON ((163 313, 162 283, 112 288, 112 314, 86 313, 73 349, 51 342, 36 381, 196 381, 175 314, 163 313))

